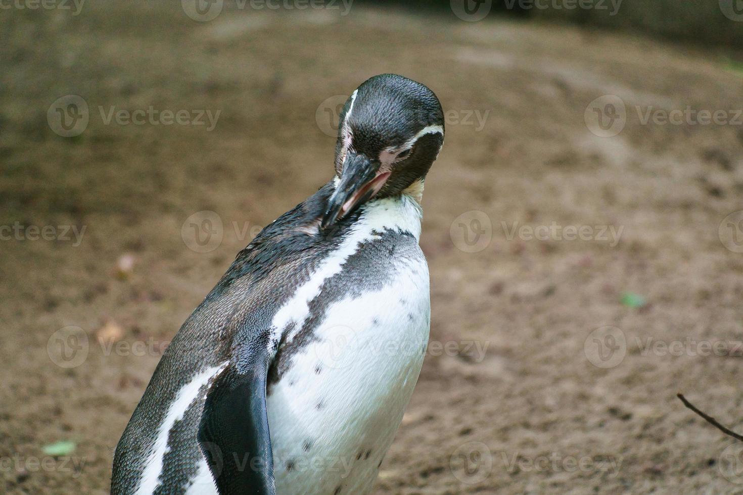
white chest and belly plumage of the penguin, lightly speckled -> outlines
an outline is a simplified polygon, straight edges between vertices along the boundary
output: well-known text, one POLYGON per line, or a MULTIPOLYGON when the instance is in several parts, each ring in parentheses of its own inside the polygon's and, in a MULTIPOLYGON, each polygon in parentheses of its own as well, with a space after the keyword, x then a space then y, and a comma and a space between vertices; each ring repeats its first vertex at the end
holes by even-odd
MULTIPOLYGON (((417 243, 420 227, 408 223, 418 218, 401 211, 414 208, 412 200, 385 203, 373 203, 367 221, 325 266, 342 266, 384 229, 412 230, 417 243)), ((293 355, 268 396, 277 494, 368 493, 392 443, 428 341, 429 279, 419 251, 378 262, 395 263, 394 276, 330 304, 311 342, 293 355)), ((313 277, 308 286, 321 283, 313 277)), ((301 322, 306 307, 306 300, 295 298, 285 315, 301 322)))

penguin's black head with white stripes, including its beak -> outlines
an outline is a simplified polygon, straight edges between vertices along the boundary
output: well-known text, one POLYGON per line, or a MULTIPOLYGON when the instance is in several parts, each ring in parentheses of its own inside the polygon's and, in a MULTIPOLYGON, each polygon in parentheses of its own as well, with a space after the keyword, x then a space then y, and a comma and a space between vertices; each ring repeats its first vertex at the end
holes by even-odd
POLYGON ((340 114, 335 191, 322 227, 371 197, 422 191, 443 144, 444 112, 429 88, 395 74, 363 82, 340 114))

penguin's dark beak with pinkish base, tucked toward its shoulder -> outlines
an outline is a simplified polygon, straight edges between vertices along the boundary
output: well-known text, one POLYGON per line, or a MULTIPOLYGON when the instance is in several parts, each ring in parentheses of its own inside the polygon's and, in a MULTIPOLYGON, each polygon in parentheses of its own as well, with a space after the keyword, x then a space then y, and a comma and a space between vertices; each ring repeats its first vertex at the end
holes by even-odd
POLYGON ((366 155, 348 152, 343 162, 340 181, 328 200, 328 209, 322 216, 320 223, 322 229, 327 229, 346 214, 353 212, 382 189, 389 172, 380 173, 380 165, 378 160, 369 160, 366 155))

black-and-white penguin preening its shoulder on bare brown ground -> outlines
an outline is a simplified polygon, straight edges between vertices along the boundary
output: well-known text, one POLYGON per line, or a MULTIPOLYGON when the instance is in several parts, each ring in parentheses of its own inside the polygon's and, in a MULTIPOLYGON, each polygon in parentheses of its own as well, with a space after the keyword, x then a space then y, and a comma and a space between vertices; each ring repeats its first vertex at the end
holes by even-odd
POLYGON ((382 74, 351 94, 334 177, 239 252, 163 353, 112 494, 369 494, 426 353, 421 197, 443 144, 425 85, 382 74))

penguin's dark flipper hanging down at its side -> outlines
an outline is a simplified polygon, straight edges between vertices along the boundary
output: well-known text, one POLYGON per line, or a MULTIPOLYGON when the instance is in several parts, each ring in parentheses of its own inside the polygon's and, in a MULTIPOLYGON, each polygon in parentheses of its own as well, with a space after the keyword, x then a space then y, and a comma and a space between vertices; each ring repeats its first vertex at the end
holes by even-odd
POLYGON ((274 495, 264 369, 228 366, 207 391, 198 443, 219 495, 274 495))

